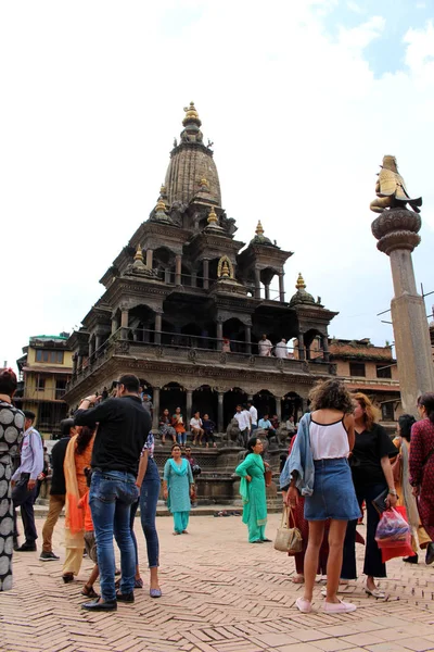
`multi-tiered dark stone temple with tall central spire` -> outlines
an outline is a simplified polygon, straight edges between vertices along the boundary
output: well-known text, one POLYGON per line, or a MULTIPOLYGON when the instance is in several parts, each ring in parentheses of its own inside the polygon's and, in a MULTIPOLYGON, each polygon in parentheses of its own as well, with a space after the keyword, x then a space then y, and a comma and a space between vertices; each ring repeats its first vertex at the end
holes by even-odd
POLYGON ((187 419, 195 410, 207 412, 222 432, 237 403, 248 398, 259 416, 297 419, 316 380, 335 373, 328 326, 336 313, 306 291, 301 275, 286 299, 284 263, 292 252, 271 242, 260 222, 246 247, 235 238, 193 102, 184 111, 155 208, 101 278, 102 297, 69 337, 74 366, 65 400, 74 408, 133 373, 152 396, 155 430, 161 412, 179 405, 187 419), (263 334, 273 344, 295 338, 295 355, 260 356, 263 334))

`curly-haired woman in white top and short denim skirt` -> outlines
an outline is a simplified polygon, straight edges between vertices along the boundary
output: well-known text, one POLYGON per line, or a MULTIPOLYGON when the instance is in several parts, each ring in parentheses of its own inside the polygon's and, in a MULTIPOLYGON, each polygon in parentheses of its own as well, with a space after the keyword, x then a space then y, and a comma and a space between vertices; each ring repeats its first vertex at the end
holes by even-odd
POLYGON ((323 611, 347 613, 356 605, 337 598, 342 553, 347 522, 358 518, 360 509, 354 490, 348 465, 354 446, 352 398, 339 380, 326 380, 310 392, 310 414, 305 414, 286 468, 290 474, 289 502, 296 506, 298 491, 305 497, 305 518, 309 523, 309 538, 305 555, 304 597, 296 601, 303 613, 311 611, 318 556, 326 523, 330 521, 329 560, 327 564, 327 594, 323 611), (297 491, 298 489, 298 491, 297 491))

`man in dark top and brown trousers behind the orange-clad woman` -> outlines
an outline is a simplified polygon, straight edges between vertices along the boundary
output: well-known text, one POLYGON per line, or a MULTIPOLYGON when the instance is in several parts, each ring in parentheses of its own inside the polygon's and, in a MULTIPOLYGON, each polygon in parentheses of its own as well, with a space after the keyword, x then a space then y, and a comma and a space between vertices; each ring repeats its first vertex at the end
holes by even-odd
POLYGON ((42 528, 42 552, 40 562, 55 562, 59 556, 54 554, 52 548, 53 529, 58 523, 59 516, 65 505, 66 485, 63 463, 65 461, 66 448, 73 435, 76 435, 76 427, 73 418, 65 418, 61 422, 62 438, 53 446, 51 451, 51 489, 50 504, 48 515, 42 528))

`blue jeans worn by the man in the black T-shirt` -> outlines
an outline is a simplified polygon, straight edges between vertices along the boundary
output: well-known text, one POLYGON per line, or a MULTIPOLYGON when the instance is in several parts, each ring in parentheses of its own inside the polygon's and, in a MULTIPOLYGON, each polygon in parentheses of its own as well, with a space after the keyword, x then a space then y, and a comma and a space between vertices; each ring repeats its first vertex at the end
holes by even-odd
POLYGON ((138 499, 136 478, 123 471, 93 471, 89 505, 97 537, 103 600, 116 600, 113 535, 120 550, 120 592, 135 588, 135 547, 129 527, 131 504, 138 499))

